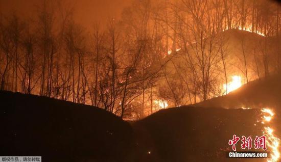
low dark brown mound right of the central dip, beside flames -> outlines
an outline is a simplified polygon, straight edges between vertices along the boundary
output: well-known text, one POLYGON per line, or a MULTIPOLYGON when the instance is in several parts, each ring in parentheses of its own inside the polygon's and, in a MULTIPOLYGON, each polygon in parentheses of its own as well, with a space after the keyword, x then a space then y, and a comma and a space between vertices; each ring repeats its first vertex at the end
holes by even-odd
POLYGON ((146 155, 143 152, 140 156, 145 160, 139 161, 266 161, 230 159, 225 152, 230 151, 228 140, 233 134, 260 136, 262 125, 255 123, 259 118, 257 109, 182 106, 159 111, 134 124, 136 129, 145 131, 150 140, 143 146, 147 149, 146 155))

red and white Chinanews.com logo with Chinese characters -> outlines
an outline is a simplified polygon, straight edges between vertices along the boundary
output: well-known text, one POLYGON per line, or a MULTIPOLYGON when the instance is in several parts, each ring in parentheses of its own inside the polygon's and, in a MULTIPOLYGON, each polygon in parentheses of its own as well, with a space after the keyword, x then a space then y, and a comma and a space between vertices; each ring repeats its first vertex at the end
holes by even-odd
POLYGON ((255 136, 254 141, 252 137, 242 136, 241 138, 233 135, 233 138, 228 141, 228 145, 232 148, 232 151, 226 152, 226 157, 229 158, 268 158, 270 152, 266 151, 266 137, 255 136), (254 144, 254 146, 252 145, 254 144), (237 147, 240 145, 239 150, 237 147), (250 151, 255 150, 255 151, 250 151), (262 150, 262 151, 260 151, 262 150))

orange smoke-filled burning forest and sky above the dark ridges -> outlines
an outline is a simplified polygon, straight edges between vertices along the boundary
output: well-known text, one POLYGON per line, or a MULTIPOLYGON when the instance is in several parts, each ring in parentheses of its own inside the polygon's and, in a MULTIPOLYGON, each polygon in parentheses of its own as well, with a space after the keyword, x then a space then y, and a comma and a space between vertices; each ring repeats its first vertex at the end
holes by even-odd
POLYGON ((1 1, 1 90, 127 120, 280 71, 273 1, 1 1))

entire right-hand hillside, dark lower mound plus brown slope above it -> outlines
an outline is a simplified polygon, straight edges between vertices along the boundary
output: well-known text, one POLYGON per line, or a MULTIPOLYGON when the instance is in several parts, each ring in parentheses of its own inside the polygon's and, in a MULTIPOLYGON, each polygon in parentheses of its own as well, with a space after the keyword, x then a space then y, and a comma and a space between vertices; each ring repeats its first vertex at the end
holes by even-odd
POLYGON ((143 152, 150 151, 147 156, 141 154, 145 160, 139 161, 267 161, 263 158, 229 159, 225 158, 225 153, 230 151, 227 142, 233 134, 261 136, 265 126, 260 122, 264 118, 263 107, 275 113, 266 126, 273 128, 277 138, 281 137, 280 80, 280 75, 272 75, 250 82, 226 96, 161 110, 137 121, 134 128, 141 136, 137 139, 146 141, 143 152), (239 109, 241 107, 252 109, 239 109))

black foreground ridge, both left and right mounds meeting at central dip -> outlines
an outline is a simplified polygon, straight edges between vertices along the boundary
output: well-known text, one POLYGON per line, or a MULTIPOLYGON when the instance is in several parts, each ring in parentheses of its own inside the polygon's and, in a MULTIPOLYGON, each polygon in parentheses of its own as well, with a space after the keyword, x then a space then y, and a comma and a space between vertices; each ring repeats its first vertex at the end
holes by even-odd
POLYGON ((47 97, 2 91, 0 102, 1 155, 37 155, 43 161, 266 161, 225 155, 233 134, 261 136, 258 109, 182 106, 129 124, 97 107, 47 97))

